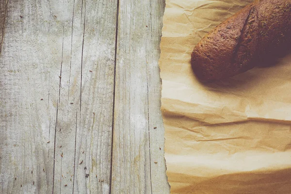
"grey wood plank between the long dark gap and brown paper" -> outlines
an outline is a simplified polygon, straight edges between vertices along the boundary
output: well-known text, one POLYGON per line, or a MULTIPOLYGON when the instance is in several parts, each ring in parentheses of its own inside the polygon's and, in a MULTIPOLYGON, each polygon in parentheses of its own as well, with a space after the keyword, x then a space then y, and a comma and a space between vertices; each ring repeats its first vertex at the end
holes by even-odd
POLYGON ((120 0, 112 194, 169 193, 158 66, 163 8, 159 0, 120 0))

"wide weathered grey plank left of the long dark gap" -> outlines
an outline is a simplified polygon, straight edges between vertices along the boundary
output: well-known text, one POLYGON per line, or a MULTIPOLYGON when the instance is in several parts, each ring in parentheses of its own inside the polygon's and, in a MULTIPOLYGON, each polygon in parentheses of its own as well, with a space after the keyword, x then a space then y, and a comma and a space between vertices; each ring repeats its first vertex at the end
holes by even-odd
POLYGON ((109 193, 116 10, 116 0, 8 1, 1 193, 109 193))

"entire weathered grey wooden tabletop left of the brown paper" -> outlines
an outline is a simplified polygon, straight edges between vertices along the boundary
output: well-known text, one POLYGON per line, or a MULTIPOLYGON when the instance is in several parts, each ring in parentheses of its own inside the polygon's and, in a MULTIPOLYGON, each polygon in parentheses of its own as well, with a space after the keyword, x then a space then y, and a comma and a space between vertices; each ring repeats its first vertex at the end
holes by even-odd
POLYGON ((1 0, 1 194, 169 193, 164 6, 1 0))

